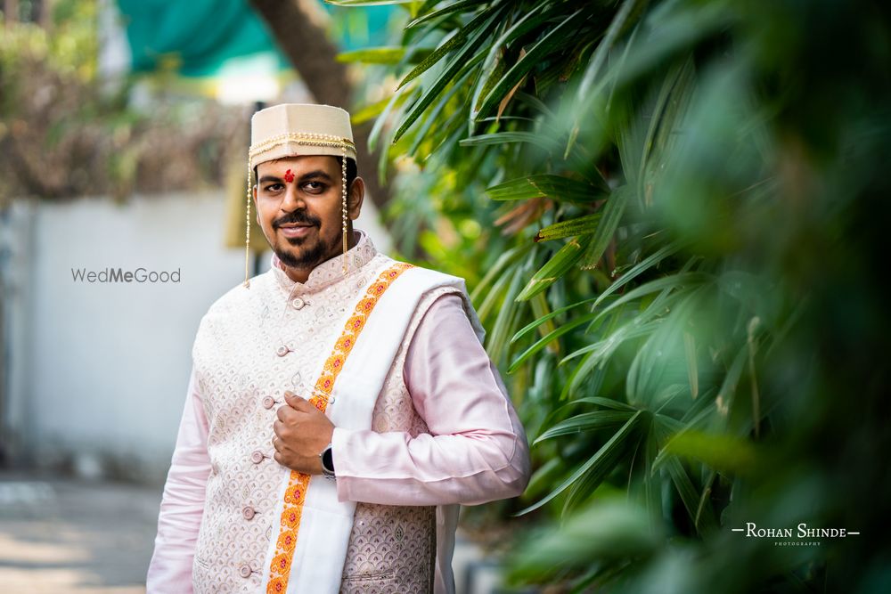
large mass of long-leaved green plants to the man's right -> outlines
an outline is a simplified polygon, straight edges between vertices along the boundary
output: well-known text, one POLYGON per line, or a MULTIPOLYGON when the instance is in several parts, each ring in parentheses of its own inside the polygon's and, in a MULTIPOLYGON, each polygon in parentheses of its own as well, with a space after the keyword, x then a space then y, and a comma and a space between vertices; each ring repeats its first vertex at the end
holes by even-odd
POLYGON ((390 4, 347 58, 399 81, 361 112, 396 240, 468 279, 534 442, 512 582, 891 591, 885 6, 390 4))

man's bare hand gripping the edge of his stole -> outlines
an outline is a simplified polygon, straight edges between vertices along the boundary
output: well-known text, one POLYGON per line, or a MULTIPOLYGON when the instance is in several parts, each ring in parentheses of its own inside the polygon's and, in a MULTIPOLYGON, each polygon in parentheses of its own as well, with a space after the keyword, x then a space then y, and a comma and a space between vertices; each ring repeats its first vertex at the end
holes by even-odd
POLYGON ((286 404, 279 407, 273 423, 274 459, 282 466, 308 475, 322 474, 319 453, 331 443, 331 420, 303 398, 284 393, 286 404))

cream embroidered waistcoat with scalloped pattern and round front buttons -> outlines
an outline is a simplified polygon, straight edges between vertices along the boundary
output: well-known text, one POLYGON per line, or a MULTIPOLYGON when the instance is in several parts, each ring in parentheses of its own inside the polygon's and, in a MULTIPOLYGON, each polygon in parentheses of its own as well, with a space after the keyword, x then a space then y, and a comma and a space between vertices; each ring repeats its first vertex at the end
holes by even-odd
MULTIPOLYGON (((201 320, 192 358, 208 419, 211 471, 192 570, 196 593, 262 590, 266 551, 280 525, 276 497, 289 472, 272 458, 275 409, 285 390, 300 395, 313 387, 348 310, 395 263, 366 237, 347 256, 346 277, 329 261, 314 271, 320 274, 312 287, 295 285, 274 267, 249 289, 229 291, 201 320)), ((421 317, 450 292, 466 297, 443 286, 417 301, 374 404, 374 431, 428 431, 405 387, 403 364, 421 317)), ((436 537, 434 507, 359 503, 340 592, 432 592, 436 537)))

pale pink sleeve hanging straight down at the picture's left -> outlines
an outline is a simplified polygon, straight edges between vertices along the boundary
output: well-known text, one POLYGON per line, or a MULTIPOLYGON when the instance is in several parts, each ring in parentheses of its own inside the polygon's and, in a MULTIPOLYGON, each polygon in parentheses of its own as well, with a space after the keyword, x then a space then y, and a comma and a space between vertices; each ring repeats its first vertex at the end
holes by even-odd
POLYGON ((192 559, 209 474, 208 419, 192 368, 176 449, 161 499, 158 535, 146 579, 147 594, 192 592, 192 559))

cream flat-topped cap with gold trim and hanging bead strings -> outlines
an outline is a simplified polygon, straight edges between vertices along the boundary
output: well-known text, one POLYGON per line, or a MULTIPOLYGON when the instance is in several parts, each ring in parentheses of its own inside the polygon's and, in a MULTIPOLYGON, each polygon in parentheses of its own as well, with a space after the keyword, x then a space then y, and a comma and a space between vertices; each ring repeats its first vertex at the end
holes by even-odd
MULTIPOLYGON (((244 286, 248 278, 250 243, 250 199, 254 185, 253 171, 260 163, 300 155, 340 157, 341 209, 343 217, 343 253, 347 254, 347 158, 356 159, 349 114, 339 107, 313 103, 282 103, 259 110, 250 118, 248 151, 248 207, 245 233, 244 286)), ((343 259, 344 274, 347 258, 343 259)))

